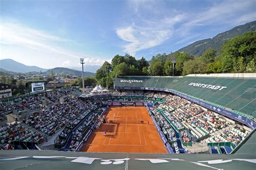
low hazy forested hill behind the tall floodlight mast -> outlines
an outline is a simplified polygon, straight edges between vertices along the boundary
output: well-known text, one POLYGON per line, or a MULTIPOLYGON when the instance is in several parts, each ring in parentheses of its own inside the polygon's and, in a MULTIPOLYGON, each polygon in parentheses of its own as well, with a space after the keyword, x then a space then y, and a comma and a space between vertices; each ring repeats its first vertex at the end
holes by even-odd
MULTIPOLYGON (((68 69, 68 68, 64 68, 64 67, 56 67, 54 69, 50 69, 46 72, 44 72, 45 74, 63 74, 63 75, 69 75, 69 76, 82 76, 82 71, 77 71, 77 70, 72 70, 72 69, 68 69)), ((92 72, 84 72, 84 76, 94 76, 95 73, 92 72)))

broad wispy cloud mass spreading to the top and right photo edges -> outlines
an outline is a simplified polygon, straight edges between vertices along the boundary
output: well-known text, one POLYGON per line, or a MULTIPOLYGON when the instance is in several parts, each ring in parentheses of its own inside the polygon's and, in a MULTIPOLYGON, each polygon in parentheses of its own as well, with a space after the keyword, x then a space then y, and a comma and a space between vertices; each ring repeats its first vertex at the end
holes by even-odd
POLYGON ((166 8, 163 1, 130 0, 128 4, 135 14, 131 14, 129 24, 122 23, 116 29, 116 34, 125 41, 124 52, 133 56, 137 51, 163 44, 170 38, 177 38, 174 44, 201 38, 199 33, 191 34, 196 26, 236 26, 256 19, 255 11, 247 11, 256 5, 253 0, 213 2, 208 8, 198 8, 198 12, 166 8))

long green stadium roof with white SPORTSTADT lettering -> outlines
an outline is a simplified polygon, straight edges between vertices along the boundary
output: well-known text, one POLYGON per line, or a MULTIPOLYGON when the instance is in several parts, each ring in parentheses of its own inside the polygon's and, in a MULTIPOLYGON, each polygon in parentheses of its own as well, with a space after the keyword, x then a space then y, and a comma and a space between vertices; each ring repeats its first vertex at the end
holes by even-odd
POLYGON ((123 76, 114 79, 114 87, 171 89, 254 118, 256 116, 256 79, 123 76))

